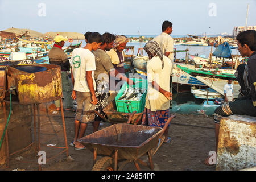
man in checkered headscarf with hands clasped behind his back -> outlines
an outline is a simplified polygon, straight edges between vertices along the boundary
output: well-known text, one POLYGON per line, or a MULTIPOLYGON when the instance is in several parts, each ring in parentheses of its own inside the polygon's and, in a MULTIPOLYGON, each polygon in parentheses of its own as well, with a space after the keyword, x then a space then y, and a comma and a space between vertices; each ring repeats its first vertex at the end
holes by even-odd
MULTIPOLYGON (((170 76, 172 74, 172 61, 163 55, 158 43, 149 41, 144 46, 150 60, 147 63, 147 96, 143 111, 142 125, 164 127, 169 118, 170 76)), ((164 131, 164 143, 169 143, 169 125, 164 131)))

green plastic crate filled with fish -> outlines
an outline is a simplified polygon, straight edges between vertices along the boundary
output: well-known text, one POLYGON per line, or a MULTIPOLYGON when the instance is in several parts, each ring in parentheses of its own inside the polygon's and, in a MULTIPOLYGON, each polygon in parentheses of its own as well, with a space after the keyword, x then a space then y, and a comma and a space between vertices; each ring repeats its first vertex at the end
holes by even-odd
POLYGON ((119 97, 122 96, 123 92, 125 92, 125 89, 127 86, 130 85, 125 82, 123 84, 122 88, 119 90, 117 96, 115 96, 115 104, 117 105, 117 111, 121 113, 132 113, 133 111, 137 111, 137 113, 142 113, 145 108, 145 102, 146 102, 146 94, 147 94, 147 80, 144 79, 132 79, 135 82, 135 85, 133 85, 134 88, 141 88, 145 91, 142 94, 142 97, 139 101, 122 101, 118 100, 119 97))

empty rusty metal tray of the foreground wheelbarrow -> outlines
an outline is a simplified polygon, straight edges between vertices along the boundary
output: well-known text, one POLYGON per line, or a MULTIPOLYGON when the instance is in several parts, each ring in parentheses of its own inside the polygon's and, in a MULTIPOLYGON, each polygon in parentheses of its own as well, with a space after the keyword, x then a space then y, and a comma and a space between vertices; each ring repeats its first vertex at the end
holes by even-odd
POLYGON ((80 138, 89 150, 97 148, 97 154, 113 156, 118 150, 118 160, 138 159, 158 144, 162 128, 115 124, 80 138))

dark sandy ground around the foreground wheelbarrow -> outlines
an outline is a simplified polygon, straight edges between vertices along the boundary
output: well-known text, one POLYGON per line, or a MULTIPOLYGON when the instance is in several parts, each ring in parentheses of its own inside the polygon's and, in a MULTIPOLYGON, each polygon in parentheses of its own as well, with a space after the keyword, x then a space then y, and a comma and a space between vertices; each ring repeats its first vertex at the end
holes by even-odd
MULTIPOLYGON (((46 151, 46 158, 62 151, 58 148, 46 147, 47 144, 56 144, 63 147, 64 134, 60 113, 48 114, 41 111, 41 150, 46 151)), ((65 127, 68 144, 72 142, 74 135, 74 113, 65 111, 65 127)), ((100 129, 110 126, 108 122, 102 122, 100 129)), ((33 130, 32 130, 33 133, 33 130)), ((92 133, 92 124, 86 130, 85 135, 92 133)), ((213 117, 205 115, 186 115, 177 114, 177 117, 171 121, 168 135, 171 137, 171 143, 163 143, 158 152, 152 157, 156 171, 214 171, 216 165, 205 166, 203 160, 208 157, 209 151, 215 148, 214 123, 213 117)), ((63 153, 55 158, 48 160, 46 165, 42 165, 43 171, 90 171, 93 167, 93 153, 88 149, 75 150, 69 146, 68 155, 63 153)), ((38 170, 38 159, 36 158, 35 147, 29 148, 26 152, 11 156, 9 168, 1 166, 1 170, 24 169, 26 171, 38 170), (20 156, 22 156, 21 160, 20 156), (15 159, 16 158, 16 159, 15 159)), ((98 156, 97 159, 100 159, 98 156)), ((141 158, 148 162, 147 156, 141 158)), ((140 165, 142 170, 150 170, 140 165)), ((134 163, 127 164, 123 170, 136 170, 134 163)))

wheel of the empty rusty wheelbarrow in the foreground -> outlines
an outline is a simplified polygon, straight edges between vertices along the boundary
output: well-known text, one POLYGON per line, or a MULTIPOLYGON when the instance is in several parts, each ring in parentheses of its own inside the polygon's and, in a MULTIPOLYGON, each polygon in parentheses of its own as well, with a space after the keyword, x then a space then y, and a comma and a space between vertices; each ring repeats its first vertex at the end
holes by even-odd
POLYGON ((103 157, 97 160, 92 171, 114 171, 113 158, 103 157))

